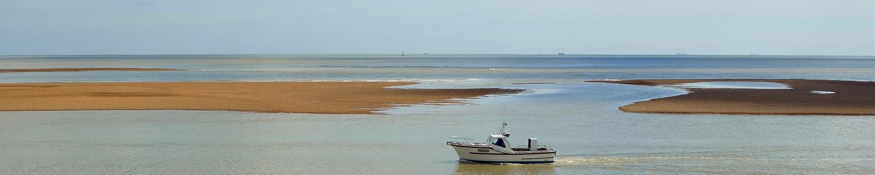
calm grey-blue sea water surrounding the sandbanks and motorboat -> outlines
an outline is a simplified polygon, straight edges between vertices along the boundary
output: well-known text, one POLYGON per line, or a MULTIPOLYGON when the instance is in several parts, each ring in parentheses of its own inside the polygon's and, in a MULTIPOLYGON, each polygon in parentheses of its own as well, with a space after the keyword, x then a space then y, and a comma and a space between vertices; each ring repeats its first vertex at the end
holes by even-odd
POLYGON ((625 113, 670 88, 587 80, 875 81, 875 58, 602 55, 2 56, 0 68, 158 67, 170 72, 0 73, 0 82, 418 81, 403 88, 525 88, 391 115, 228 111, 0 112, 2 174, 871 174, 875 116, 625 113), (515 84, 541 83, 550 84, 515 84), (462 163, 451 136, 508 123, 549 165, 462 163))

